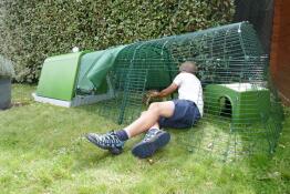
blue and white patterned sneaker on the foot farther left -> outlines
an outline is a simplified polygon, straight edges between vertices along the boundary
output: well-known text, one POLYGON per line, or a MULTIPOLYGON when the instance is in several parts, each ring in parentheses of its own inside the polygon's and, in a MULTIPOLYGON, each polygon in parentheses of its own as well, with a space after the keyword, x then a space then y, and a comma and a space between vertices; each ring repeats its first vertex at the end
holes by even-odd
POLYGON ((85 136, 91 143, 100 149, 108 150, 113 154, 120 154, 124 147, 124 141, 121 141, 114 131, 106 134, 89 133, 85 136))

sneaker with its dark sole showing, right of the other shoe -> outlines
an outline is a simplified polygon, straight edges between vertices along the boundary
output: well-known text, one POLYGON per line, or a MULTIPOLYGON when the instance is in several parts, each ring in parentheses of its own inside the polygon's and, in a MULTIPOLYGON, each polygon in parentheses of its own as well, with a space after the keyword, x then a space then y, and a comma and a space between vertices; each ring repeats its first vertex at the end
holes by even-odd
POLYGON ((132 154, 141 159, 149 157, 169 141, 170 134, 168 132, 163 130, 148 131, 144 140, 132 149, 132 154))

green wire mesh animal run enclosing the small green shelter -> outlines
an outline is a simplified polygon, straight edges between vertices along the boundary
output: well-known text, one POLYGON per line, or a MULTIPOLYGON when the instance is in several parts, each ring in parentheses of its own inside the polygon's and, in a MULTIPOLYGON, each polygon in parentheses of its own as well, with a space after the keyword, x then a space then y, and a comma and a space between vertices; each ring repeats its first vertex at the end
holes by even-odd
POLYGON ((226 159, 272 153, 283 113, 267 79, 268 58, 248 22, 124 48, 108 73, 115 98, 102 103, 101 113, 120 124, 137 119, 146 91, 169 85, 184 61, 198 64, 205 114, 180 143, 226 159))

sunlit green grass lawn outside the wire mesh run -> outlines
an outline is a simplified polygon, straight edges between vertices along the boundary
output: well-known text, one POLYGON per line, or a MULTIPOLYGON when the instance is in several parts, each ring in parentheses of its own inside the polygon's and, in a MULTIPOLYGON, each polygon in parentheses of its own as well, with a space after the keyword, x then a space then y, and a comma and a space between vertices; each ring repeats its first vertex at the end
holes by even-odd
POLYGON ((138 160, 128 141, 118 156, 83 134, 121 126, 97 105, 65 109, 31 100, 34 86, 13 85, 14 108, 0 112, 0 193, 290 193, 290 116, 272 157, 222 162, 194 152, 193 130, 169 130, 172 141, 151 160, 138 160))

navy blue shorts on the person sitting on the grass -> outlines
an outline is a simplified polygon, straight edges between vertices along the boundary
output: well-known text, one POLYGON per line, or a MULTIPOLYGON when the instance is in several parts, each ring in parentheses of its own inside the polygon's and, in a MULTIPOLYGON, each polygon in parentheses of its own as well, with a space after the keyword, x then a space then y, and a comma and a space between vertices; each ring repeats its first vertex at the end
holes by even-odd
POLYGON ((170 118, 159 118, 160 127, 191 127, 199 119, 200 113, 193 101, 174 100, 174 113, 170 118))

